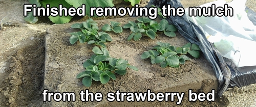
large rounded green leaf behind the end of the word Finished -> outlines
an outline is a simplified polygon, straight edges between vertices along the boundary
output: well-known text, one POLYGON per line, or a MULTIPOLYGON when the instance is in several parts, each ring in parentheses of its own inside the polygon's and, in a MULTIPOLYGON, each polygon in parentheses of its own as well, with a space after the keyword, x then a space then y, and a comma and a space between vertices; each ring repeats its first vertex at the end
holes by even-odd
MULTIPOLYGON (((62 5, 62 7, 70 8, 71 5, 68 4, 65 0, 59 0, 59 1, 52 1, 52 0, 45 0, 41 2, 42 6, 46 8, 46 5, 49 4, 50 8, 52 7, 59 7, 59 4, 62 5)), ((59 12, 60 13, 60 12, 59 12)), ((49 19, 55 23, 55 24, 63 24, 68 23, 71 20, 71 16, 64 16, 64 12, 62 11, 62 16, 49 16, 49 19)))

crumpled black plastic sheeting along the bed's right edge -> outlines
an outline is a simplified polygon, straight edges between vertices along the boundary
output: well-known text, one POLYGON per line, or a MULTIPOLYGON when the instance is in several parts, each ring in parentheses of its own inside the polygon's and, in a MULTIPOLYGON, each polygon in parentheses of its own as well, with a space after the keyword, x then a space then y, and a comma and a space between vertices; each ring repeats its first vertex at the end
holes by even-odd
MULTIPOLYGON (((176 9, 183 7, 179 0, 151 0, 147 7, 152 5, 162 8, 164 5, 171 5, 176 9)), ((247 14, 249 19, 256 24, 255 12, 248 9, 247 14)), ((172 14, 172 13, 171 13, 172 14)), ((218 79, 218 95, 222 96, 223 92, 228 87, 242 87, 249 84, 256 83, 256 67, 239 68, 231 67, 230 64, 224 61, 219 51, 214 47, 213 44, 208 42, 206 36, 202 30, 193 22, 188 20, 188 16, 168 16, 166 20, 172 23, 178 29, 178 32, 189 42, 196 43, 202 50, 204 57, 214 68, 216 77, 218 79), (254 75, 253 75, 254 74, 254 75)))

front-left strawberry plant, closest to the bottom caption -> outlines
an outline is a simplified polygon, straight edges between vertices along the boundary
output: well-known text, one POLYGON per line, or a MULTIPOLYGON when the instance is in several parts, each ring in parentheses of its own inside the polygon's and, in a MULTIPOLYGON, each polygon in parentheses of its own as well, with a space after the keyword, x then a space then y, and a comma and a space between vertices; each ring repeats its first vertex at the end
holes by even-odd
POLYGON ((138 68, 128 64, 126 60, 111 58, 106 48, 94 46, 92 51, 95 55, 83 63, 86 70, 76 76, 76 78, 83 78, 82 84, 86 87, 90 87, 93 80, 100 81, 102 84, 108 83, 110 78, 115 80, 115 73, 124 75, 126 68, 138 71, 138 68))

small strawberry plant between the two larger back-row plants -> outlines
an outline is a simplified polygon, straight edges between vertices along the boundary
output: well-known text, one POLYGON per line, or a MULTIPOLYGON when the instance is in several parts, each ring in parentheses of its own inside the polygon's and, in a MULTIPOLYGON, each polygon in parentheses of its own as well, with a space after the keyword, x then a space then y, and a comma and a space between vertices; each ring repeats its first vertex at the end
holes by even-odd
POLYGON ((115 33, 121 33, 121 32, 123 32, 123 29, 122 29, 122 27, 120 26, 121 23, 116 22, 116 21, 111 21, 110 23, 111 23, 111 25, 109 25, 109 24, 103 25, 102 28, 101 28, 101 30, 102 30, 102 31, 106 31, 106 32, 113 31, 113 32, 115 32, 115 33))

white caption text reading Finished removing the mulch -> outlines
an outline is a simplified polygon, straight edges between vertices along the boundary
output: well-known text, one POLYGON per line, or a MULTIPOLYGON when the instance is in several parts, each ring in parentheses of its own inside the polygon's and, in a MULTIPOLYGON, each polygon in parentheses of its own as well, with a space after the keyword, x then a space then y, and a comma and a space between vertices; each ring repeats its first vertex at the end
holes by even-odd
MULTIPOLYGON (((138 4, 135 7, 90 7, 90 16, 148 16, 150 19, 156 19, 158 12, 162 11, 162 16, 183 16, 185 9, 183 7, 172 7, 171 5, 164 5, 163 7, 139 7, 138 4), (171 14, 172 13, 172 14, 171 14)), ((33 13, 33 16, 86 16, 86 5, 82 4, 81 7, 63 7, 62 4, 59 7, 51 7, 49 4, 46 7, 37 7, 35 4, 24 5, 24 16, 27 16, 29 12, 33 13), (32 12, 33 10, 33 12, 32 12), (63 11, 63 13, 62 13, 63 11)), ((212 4, 210 7, 189 7, 189 16, 233 16, 233 8, 225 4, 223 7, 216 7, 212 4)))

